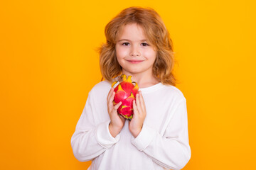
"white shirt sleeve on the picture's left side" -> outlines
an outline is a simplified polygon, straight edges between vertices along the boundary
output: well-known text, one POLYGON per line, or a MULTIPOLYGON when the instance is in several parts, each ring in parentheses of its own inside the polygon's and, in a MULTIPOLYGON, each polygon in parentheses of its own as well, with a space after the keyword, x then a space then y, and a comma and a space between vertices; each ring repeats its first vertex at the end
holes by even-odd
POLYGON ((112 137, 109 130, 110 120, 95 124, 96 115, 90 93, 82 115, 71 137, 71 147, 76 159, 87 162, 99 156, 119 141, 119 135, 112 137))

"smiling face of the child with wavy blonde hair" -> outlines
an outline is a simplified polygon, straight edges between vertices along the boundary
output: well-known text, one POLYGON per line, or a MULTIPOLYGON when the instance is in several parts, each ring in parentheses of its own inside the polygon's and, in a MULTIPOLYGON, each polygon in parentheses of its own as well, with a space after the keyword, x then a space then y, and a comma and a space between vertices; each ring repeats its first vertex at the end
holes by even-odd
POLYGON ((124 74, 152 74, 156 51, 146 41, 144 30, 136 23, 127 24, 117 38, 117 61, 124 74))

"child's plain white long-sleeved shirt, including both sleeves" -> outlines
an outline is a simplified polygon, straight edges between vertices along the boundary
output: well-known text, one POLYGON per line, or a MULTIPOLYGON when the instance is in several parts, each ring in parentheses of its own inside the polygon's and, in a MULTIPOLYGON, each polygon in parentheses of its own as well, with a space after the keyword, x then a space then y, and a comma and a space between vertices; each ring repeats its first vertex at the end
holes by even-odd
POLYGON ((107 94, 111 84, 101 81, 88 94, 71 137, 80 162, 92 160, 95 169, 182 169, 191 158, 186 98, 175 86, 155 84, 139 89, 146 105, 142 131, 134 138, 129 120, 116 137, 109 130, 107 94))

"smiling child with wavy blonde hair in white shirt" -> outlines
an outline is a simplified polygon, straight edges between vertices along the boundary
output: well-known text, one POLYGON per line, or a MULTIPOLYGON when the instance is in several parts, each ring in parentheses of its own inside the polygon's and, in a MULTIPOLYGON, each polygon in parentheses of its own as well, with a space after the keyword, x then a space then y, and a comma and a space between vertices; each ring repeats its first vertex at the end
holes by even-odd
POLYGON ((100 48, 105 81, 88 94, 71 145, 89 169, 182 169, 191 158, 186 98, 175 87, 171 39, 151 8, 126 8, 107 24, 100 48), (121 74, 139 85, 134 115, 113 105, 113 81, 121 74), (143 96, 142 96, 143 94, 143 96))

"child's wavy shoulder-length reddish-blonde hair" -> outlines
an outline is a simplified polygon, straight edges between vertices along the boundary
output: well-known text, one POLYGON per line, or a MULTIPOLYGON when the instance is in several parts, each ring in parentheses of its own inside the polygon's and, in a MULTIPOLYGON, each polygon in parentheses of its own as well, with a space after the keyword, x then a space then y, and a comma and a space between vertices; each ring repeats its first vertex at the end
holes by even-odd
POLYGON ((100 71, 102 79, 112 82, 114 77, 122 74, 122 67, 117 62, 115 45, 122 27, 129 23, 142 26, 147 40, 157 51, 153 64, 153 75, 162 84, 176 86, 174 77, 174 52, 172 40, 161 17, 152 8, 130 7, 125 8, 105 27, 107 42, 99 48, 100 71))

